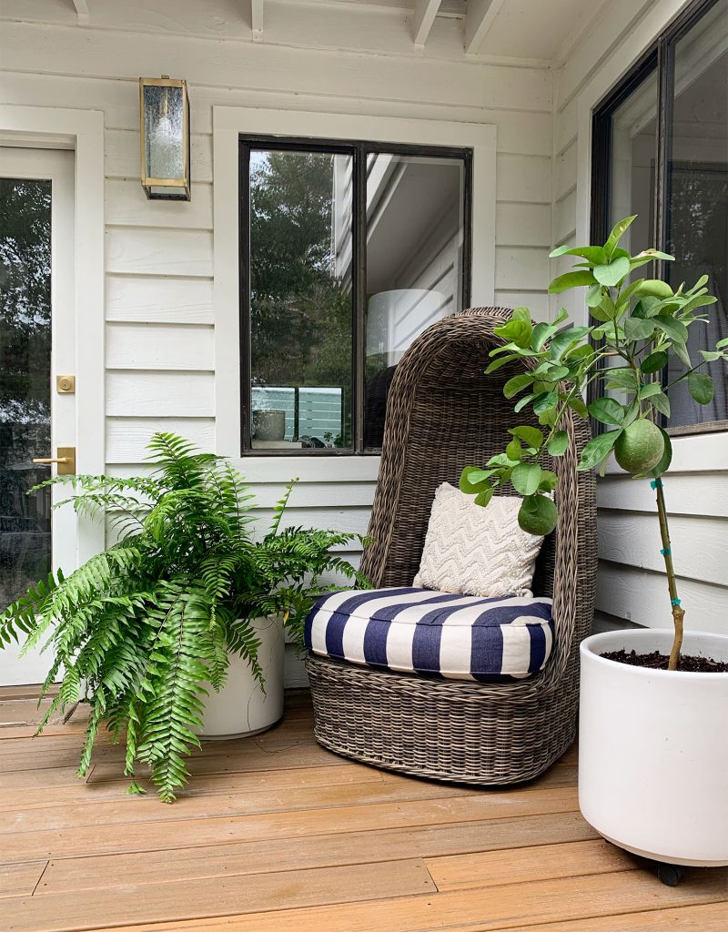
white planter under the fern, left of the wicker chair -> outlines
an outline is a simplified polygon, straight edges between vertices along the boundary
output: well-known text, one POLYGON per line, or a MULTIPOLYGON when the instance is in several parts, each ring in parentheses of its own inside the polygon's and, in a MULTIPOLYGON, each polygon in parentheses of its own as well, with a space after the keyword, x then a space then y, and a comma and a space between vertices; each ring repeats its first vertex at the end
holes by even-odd
POLYGON ((250 666, 239 654, 230 656, 227 680, 220 692, 208 686, 201 737, 207 740, 238 738, 265 732, 283 714, 283 658, 285 644, 281 619, 256 618, 251 623, 261 641, 258 661, 263 668, 266 692, 261 690, 250 666))

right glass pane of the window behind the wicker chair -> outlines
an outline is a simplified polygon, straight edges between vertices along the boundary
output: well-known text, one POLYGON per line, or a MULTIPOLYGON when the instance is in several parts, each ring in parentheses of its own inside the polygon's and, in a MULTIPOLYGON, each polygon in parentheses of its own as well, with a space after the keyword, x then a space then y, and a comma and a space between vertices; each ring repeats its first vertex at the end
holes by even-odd
POLYGON ((367 158, 367 449, 381 446, 387 394, 405 349, 462 307, 464 184, 461 158, 367 158))

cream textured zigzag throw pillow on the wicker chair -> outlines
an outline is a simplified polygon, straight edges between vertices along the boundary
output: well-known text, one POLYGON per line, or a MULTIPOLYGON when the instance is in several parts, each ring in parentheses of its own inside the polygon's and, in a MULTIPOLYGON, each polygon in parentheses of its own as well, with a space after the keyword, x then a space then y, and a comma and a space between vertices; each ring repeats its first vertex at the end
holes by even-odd
POLYGON ((543 537, 518 527, 521 501, 497 495, 483 508, 444 482, 434 493, 413 585, 462 596, 532 596, 543 537))

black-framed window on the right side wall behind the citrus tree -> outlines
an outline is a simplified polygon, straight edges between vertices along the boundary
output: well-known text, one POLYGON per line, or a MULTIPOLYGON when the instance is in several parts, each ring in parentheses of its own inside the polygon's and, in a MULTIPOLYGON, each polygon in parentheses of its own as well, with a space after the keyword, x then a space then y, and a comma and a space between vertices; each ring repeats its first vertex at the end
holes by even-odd
MULTIPOLYGON (((728 336, 728 0, 692 4, 598 108, 593 170, 595 242, 637 213, 625 249, 675 255, 655 269, 673 288, 707 275, 718 302, 691 328, 699 359, 728 336)), ((711 404, 696 404, 684 381, 668 390, 670 432, 728 429, 728 367, 711 370, 711 404)), ((678 374, 666 369, 666 386, 678 374)))

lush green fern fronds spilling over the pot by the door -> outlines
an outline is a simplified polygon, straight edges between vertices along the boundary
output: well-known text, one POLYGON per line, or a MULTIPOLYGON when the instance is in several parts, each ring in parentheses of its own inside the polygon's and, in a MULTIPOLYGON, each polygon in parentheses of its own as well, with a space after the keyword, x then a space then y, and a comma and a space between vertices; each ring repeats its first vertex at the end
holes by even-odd
MULTIPOLYGON (((172 433, 149 444, 146 477, 59 476, 79 514, 106 516, 119 541, 64 577, 51 573, 0 614, 0 643, 26 636, 53 661, 41 698, 61 686, 38 731, 78 701, 90 706, 78 775, 89 770, 105 726, 126 739, 124 773, 143 792, 135 767, 146 764, 164 802, 188 778, 185 758, 199 747, 204 698, 224 684, 228 651, 258 664, 250 621, 279 615, 300 631, 311 599, 331 588, 323 576, 364 583, 332 547, 354 535, 281 528, 294 483, 274 508, 264 536, 254 534, 253 496, 240 473, 198 453, 172 433)), ((34 490, 32 490, 34 491, 34 490)))

